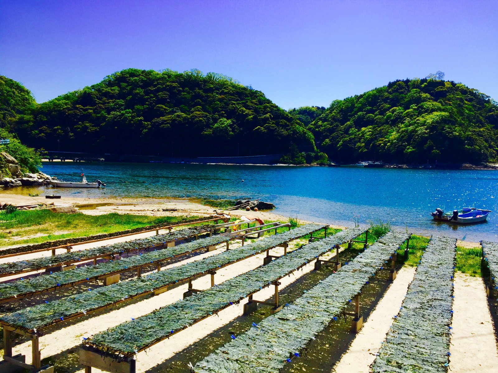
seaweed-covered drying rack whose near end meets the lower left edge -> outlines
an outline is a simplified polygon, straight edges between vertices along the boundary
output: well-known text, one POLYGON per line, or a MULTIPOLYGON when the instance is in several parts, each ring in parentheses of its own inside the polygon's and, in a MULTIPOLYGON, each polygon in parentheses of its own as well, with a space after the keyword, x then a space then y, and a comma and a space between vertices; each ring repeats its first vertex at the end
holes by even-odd
POLYGON ((28 332, 40 330, 64 319, 78 314, 90 312, 104 306, 110 306, 123 299, 130 299, 153 289, 173 284, 224 267, 238 260, 264 252, 283 243, 303 237, 307 234, 323 229, 323 225, 307 224, 277 235, 266 236, 253 243, 229 250, 200 261, 155 272, 148 276, 134 280, 123 281, 87 291, 81 294, 68 296, 49 303, 24 308, 17 312, 3 315, 0 321, 15 328, 28 332))

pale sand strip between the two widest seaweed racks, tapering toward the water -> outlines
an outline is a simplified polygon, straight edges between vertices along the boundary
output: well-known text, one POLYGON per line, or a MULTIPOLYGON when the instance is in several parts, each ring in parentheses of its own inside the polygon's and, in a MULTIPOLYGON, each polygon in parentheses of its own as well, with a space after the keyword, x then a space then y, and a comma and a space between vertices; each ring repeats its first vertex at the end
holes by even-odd
POLYGON ((415 275, 415 268, 403 267, 377 303, 362 330, 356 336, 348 352, 343 355, 332 372, 368 373, 380 349, 385 335, 392 324, 392 316, 397 315, 399 307, 408 291, 408 285, 415 275))

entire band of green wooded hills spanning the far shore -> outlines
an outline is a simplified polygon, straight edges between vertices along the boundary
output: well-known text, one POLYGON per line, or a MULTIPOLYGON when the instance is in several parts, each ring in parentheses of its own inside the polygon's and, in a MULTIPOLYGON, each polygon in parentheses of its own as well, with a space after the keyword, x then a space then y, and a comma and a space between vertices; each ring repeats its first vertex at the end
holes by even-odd
POLYGON ((173 157, 282 153, 282 162, 296 164, 328 158, 497 161, 497 102, 443 79, 438 71, 335 100, 327 108, 286 111, 232 78, 198 70, 126 69, 40 104, 21 84, 0 76, 0 128, 31 147, 61 151, 173 157))

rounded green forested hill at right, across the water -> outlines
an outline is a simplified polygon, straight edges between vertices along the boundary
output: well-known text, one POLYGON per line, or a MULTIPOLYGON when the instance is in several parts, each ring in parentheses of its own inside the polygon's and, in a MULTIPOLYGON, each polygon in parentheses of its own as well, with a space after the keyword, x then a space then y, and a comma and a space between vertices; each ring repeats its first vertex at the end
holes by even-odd
POLYGON ((329 159, 347 163, 497 161, 497 103, 455 82, 391 82, 333 101, 307 129, 329 159))

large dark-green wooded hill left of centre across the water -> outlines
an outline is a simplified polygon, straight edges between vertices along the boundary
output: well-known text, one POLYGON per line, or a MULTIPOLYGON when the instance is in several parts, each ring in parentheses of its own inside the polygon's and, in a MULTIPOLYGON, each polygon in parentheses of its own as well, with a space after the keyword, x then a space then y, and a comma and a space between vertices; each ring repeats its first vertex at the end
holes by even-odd
POLYGON ((15 128, 37 148, 162 156, 316 151, 304 125, 263 93, 192 70, 126 69, 41 103, 15 128))

